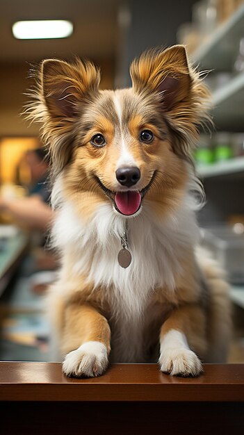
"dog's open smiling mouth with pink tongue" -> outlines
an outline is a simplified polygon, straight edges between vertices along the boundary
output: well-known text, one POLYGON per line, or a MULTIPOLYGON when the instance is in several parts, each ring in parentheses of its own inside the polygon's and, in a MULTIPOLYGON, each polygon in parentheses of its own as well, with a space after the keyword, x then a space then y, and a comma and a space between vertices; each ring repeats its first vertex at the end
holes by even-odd
POLYGON ((106 196, 113 201, 115 209, 122 215, 131 216, 140 210, 143 202, 143 198, 148 192, 149 188, 152 186, 154 178, 156 177, 156 171, 152 175, 149 183, 142 190, 118 190, 113 192, 101 183, 99 177, 95 177, 99 187, 104 191, 106 196))

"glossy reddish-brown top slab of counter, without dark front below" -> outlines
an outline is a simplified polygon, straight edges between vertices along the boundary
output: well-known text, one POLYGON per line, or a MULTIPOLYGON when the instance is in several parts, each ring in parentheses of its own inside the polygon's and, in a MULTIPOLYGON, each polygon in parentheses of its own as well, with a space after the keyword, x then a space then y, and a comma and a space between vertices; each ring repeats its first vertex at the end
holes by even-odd
POLYGON ((244 364, 204 370, 183 378, 164 375, 156 364, 113 364, 101 377, 76 379, 65 377, 60 363, 1 362, 0 400, 244 402, 244 364))

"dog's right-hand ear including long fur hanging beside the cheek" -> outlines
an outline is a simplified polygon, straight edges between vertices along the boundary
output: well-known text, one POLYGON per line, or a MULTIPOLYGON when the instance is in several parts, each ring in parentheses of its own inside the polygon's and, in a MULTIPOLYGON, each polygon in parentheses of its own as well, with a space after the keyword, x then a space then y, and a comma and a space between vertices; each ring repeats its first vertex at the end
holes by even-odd
POLYGON ((160 105, 174 132, 174 152, 189 159, 200 124, 210 120, 211 95, 200 73, 188 65, 185 47, 146 51, 131 64, 131 79, 134 92, 160 105))

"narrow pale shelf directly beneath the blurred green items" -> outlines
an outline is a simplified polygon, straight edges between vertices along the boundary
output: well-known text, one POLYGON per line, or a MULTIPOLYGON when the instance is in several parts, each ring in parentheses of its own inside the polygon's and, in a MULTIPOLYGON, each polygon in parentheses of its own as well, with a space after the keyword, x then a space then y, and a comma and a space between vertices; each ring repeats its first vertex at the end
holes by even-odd
POLYGON ((244 174, 244 156, 231 158, 228 161, 201 165, 197 167, 197 174, 202 178, 218 177, 220 175, 244 174))

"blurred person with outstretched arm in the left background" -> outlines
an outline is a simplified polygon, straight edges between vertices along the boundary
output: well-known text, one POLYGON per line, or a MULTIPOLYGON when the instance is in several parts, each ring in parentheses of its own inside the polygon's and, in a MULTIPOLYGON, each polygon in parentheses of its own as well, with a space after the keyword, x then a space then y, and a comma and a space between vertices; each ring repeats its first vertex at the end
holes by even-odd
POLYGON ((30 277, 31 290, 42 293, 53 279, 51 271, 58 267, 56 254, 46 246, 54 211, 49 204, 49 161, 44 148, 31 149, 22 156, 16 181, 27 196, 0 196, 0 215, 3 213, 8 221, 29 233, 31 243, 20 273, 30 277), (21 177, 21 167, 27 170, 28 181, 21 177))

